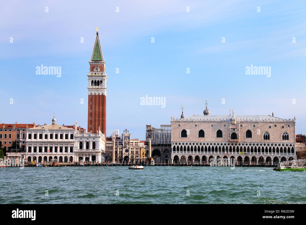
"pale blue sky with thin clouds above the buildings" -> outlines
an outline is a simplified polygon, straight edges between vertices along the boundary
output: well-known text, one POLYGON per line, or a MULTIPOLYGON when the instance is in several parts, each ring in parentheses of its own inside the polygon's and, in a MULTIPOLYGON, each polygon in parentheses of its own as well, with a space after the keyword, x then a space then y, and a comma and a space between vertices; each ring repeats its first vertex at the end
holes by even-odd
POLYGON ((127 128, 144 140, 146 124, 170 124, 171 116, 181 115, 181 104, 185 116, 203 114, 205 100, 211 115, 229 114, 230 107, 236 115, 295 115, 296 133, 305 133, 305 1, 11 1, 2 6, 1 122, 50 124, 55 113, 58 124, 77 120, 87 128, 88 61, 99 27, 108 77, 107 136, 127 128), (61 66, 62 76, 36 75, 41 64, 61 66), (271 77, 246 75, 251 64, 271 66, 271 77), (140 105, 146 95, 165 97, 166 107, 140 105))

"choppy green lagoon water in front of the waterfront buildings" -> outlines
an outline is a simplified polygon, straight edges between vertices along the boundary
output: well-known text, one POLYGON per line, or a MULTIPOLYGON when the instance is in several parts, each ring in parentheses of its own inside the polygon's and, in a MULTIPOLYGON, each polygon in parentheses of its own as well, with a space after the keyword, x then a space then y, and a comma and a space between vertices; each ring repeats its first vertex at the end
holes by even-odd
POLYGON ((4 204, 306 203, 306 172, 272 167, 11 167, 0 174, 4 204))

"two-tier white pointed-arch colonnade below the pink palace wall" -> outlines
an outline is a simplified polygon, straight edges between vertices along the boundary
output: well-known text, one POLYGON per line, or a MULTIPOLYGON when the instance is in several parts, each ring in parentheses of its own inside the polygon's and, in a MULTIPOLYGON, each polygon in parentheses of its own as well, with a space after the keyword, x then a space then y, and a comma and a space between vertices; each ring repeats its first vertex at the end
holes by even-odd
POLYGON ((266 164, 296 159, 293 143, 172 143, 171 163, 209 164, 221 158, 222 163, 266 164))

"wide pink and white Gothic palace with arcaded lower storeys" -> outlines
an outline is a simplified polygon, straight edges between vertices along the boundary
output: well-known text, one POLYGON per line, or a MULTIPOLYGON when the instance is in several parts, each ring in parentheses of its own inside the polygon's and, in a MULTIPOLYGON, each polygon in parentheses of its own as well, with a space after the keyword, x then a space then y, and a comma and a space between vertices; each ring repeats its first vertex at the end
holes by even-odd
POLYGON ((295 118, 193 115, 171 118, 171 163, 273 164, 296 159, 295 118))

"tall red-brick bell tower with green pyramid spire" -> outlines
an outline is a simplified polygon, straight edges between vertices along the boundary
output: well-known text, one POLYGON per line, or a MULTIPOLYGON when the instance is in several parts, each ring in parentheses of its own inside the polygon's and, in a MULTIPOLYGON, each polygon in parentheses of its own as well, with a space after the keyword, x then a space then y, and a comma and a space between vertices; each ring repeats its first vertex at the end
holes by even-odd
POLYGON ((96 28, 94 48, 89 62, 90 72, 88 73, 88 127, 91 133, 99 132, 99 129, 106 137, 106 73, 99 40, 98 28, 96 28))

